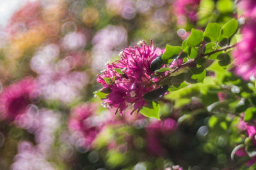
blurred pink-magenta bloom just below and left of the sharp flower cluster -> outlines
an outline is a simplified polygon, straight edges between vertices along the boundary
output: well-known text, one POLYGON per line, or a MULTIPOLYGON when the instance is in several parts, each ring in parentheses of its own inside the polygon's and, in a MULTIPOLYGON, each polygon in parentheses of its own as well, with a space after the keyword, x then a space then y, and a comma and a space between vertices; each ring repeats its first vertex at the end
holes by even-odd
POLYGON ((90 148, 97 134, 102 130, 104 122, 95 116, 93 104, 83 104, 72 110, 68 127, 76 132, 77 145, 90 148))

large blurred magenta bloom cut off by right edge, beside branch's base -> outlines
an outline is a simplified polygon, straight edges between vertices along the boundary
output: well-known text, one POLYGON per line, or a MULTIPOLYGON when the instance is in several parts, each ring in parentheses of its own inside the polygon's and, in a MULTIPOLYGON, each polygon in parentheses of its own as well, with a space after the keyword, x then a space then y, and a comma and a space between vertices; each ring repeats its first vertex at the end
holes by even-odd
POLYGON ((255 76, 256 73, 256 22, 249 20, 244 25, 241 33, 243 39, 237 45, 233 56, 236 59, 237 67, 236 74, 248 80, 250 76, 255 76))

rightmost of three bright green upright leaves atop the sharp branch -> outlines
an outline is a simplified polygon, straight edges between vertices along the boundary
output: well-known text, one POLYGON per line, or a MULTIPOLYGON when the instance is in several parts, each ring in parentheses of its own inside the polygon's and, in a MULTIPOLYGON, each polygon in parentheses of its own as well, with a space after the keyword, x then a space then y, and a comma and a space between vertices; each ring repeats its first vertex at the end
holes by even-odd
POLYGON ((222 28, 221 28, 221 36, 223 38, 230 38, 236 31, 238 27, 238 22, 236 19, 232 19, 228 21, 222 28))

